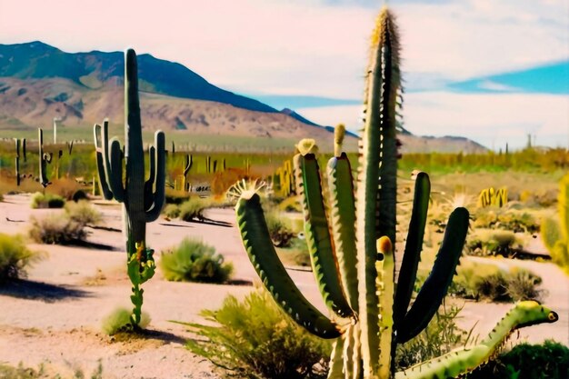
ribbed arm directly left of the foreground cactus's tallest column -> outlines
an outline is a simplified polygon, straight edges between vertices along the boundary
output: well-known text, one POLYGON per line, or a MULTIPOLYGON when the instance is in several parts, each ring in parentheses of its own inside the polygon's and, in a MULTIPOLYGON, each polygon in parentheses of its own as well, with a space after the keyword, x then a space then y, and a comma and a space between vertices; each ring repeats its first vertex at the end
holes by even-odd
POLYGON ((355 199, 352 168, 347 155, 331 158, 327 165, 330 219, 342 285, 352 309, 358 309, 355 199))

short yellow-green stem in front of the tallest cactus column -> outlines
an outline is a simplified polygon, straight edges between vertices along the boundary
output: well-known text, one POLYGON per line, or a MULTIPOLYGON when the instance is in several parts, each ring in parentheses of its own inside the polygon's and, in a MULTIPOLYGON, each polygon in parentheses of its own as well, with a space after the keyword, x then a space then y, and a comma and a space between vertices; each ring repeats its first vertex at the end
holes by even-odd
MULTIPOLYGON (((394 246, 388 237, 377 240, 377 254, 383 260, 376 263, 377 295, 379 297, 379 348, 390 352, 394 331, 394 246)), ((379 355, 379 377, 391 376, 391 354, 379 355)))

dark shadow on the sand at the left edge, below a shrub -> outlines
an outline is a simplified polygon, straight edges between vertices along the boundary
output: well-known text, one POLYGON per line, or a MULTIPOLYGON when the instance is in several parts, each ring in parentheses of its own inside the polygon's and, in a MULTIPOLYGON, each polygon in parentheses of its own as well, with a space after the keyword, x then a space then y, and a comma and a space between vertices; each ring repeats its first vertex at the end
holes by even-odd
POLYGON ((91 293, 68 285, 55 285, 18 279, 0 286, 0 294, 19 299, 55 303, 90 296, 91 293))

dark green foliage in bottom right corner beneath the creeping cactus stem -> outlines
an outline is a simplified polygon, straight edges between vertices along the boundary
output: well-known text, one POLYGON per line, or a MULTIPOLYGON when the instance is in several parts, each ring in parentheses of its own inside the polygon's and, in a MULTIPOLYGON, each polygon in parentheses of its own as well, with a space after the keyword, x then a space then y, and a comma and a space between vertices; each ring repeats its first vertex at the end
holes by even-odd
POLYGON ((548 340, 544 344, 518 344, 498 355, 466 379, 566 379, 569 348, 548 340))

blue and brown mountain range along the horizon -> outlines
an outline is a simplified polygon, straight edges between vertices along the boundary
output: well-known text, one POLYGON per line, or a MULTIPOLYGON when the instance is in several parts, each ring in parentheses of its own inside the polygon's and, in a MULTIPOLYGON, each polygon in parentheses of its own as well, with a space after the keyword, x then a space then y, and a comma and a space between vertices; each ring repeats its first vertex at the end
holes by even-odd
MULTIPOLYGON (((316 125, 292 109, 274 107, 210 84, 184 65, 138 55, 143 127, 196 135, 330 141, 333 128, 316 125)), ((124 55, 65 53, 35 41, 0 45, 0 133, 51 125, 89 126, 108 117, 124 121, 124 55)), ((85 128, 86 130, 86 128, 85 128)), ((8 136, 8 135, 6 135, 8 136)), ((409 139, 408 135, 402 136, 409 139)), ((412 139, 416 140, 414 137, 412 139)), ((428 138, 422 145, 433 145, 428 138), (428 140, 428 141, 427 141, 428 140)), ((484 149, 469 140, 447 140, 454 151, 484 149)), ((354 135, 348 145, 355 146, 354 135)), ((415 141, 416 142, 416 141, 415 141)), ((331 144, 330 144, 331 145, 331 144)), ((411 148, 411 140, 404 150, 411 148)), ((448 149, 448 144, 445 145, 448 149)), ((426 150, 430 150, 427 146, 426 150)))

